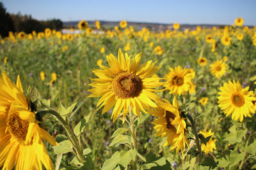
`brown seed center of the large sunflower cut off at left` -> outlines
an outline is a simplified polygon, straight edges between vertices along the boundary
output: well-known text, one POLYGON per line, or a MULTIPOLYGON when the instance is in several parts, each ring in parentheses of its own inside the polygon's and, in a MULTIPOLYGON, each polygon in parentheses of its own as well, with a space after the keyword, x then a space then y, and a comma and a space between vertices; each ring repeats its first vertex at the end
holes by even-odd
POLYGON ((19 143, 24 143, 26 141, 26 135, 28 133, 28 120, 22 120, 19 117, 19 113, 15 111, 15 108, 11 104, 8 111, 8 117, 6 120, 7 128, 12 137, 17 139, 19 143))

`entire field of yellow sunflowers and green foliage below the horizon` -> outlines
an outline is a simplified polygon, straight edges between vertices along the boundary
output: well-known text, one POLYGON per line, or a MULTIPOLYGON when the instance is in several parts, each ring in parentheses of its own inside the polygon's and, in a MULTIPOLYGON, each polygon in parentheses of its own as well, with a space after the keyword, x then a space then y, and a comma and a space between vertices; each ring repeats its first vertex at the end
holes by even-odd
POLYGON ((256 27, 77 27, 1 38, 2 169, 256 169, 256 27))

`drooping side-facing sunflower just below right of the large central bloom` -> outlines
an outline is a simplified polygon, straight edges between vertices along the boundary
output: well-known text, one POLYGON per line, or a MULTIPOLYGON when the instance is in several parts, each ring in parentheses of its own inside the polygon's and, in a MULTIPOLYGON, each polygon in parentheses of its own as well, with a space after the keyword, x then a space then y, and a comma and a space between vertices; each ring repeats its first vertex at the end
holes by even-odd
POLYGON ((176 97, 173 98, 172 104, 169 101, 158 101, 157 105, 159 107, 154 108, 150 114, 157 117, 152 124, 154 124, 154 129, 157 133, 155 136, 161 136, 161 138, 166 137, 166 142, 164 146, 169 146, 170 150, 176 148, 176 153, 181 150, 183 153, 184 148, 188 145, 188 129, 186 129, 185 118, 182 118, 179 111, 179 104, 176 97))

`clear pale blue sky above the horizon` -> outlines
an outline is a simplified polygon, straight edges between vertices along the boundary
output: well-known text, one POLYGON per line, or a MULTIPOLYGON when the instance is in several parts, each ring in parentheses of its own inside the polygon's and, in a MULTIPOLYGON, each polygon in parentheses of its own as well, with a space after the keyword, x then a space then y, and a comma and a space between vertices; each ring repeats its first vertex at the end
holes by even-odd
POLYGON ((9 13, 31 14, 38 20, 109 20, 170 24, 233 24, 237 17, 244 25, 256 25, 256 1, 237 0, 2 0, 9 13))

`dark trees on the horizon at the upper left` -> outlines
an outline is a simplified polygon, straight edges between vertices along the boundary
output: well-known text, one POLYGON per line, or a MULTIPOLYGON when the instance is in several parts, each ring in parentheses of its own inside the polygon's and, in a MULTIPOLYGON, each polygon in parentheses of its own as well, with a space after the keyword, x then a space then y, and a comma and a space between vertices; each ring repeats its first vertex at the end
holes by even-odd
POLYGON ((0 2, 0 34, 2 37, 8 36, 9 31, 31 33, 32 31, 41 32, 45 28, 56 29, 57 31, 63 27, 60 19, 52 19, 47 21, 38 21, 31 15, 10 14, 0 2))

